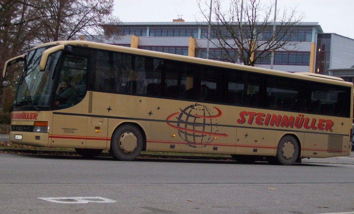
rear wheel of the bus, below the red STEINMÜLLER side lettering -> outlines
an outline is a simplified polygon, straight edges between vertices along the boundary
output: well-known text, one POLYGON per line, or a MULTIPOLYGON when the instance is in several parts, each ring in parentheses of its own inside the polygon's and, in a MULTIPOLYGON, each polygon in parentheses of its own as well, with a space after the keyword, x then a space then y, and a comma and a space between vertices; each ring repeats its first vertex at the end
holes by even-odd
POLYGON ((291 135, 282 137, 276 150, 276 157, 280 164, 290 166, 295 163, 299 155, 299 145, 297 140, 291 135))

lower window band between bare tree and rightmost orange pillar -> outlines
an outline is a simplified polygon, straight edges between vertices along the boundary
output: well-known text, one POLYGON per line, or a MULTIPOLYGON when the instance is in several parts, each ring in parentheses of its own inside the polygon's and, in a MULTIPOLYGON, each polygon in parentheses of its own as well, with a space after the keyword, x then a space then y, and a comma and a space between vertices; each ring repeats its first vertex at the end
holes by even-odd
POLYGON ((274 64, 277 64, 277 65, 310 65, 310 53, 275 52, 274 64))

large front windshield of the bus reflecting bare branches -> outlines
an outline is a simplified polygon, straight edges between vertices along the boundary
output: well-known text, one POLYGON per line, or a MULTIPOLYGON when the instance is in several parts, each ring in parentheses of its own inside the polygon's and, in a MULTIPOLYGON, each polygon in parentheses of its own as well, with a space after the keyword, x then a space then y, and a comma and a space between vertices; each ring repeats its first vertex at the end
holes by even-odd
POLYGON ((48 57, 45 71, 39 70, 42 53, 48 47, 41 47, 29 51, 24 64, 24 69, 19 78, 18 88, 13 104, 15 106, 49 106, 53 88, 53 73, 61 51, 48 57))

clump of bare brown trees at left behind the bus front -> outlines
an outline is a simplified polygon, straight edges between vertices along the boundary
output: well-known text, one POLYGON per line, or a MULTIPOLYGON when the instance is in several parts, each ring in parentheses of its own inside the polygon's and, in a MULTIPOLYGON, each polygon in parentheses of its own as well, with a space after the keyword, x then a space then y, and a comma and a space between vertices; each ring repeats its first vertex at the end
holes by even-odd
MULTIPOLYGON (((81 34, 109 36, 103 25, 119 23, 112 14, 113 0, 0 0, 0 68, 39 43, 80 39, 81 34)), ((6 97, 16 90, 21 73, 21 66, 11 67, 6 97)), ((0 95, 3 90, 0 84, 0 95)))

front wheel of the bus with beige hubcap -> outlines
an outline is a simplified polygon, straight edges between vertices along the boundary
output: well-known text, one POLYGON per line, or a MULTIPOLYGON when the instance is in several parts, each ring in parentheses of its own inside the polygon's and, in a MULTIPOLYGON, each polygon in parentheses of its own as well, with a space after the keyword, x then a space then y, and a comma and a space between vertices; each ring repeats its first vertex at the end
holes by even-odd
POLYGON ((113 158, 121 161, 133 161, 143 150, 143 135, 139 128, 132 124, 118 127, 111 141, 113 158))

